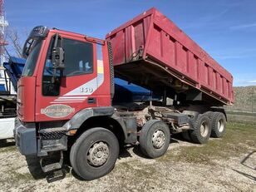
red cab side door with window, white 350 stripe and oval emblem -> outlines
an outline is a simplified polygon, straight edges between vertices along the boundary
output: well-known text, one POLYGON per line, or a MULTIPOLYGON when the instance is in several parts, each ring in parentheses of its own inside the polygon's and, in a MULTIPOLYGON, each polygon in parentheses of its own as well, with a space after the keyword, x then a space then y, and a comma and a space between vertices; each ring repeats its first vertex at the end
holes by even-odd
MULTIPOLYGON (((64 49, 65 68, 55 70, 52 66, 55 37, 52 34, 48 41, 41 74, 37 76, 36 121, 68 120, 77 111, 102 106, 102 96, 110 95, 104 89, 107 81, 103 61, 97 59, 96 43, 87 42, 84 37, 59 34, 57 46, 64 49)), ((104 105, 110 105, 108 100, 104 105)))

